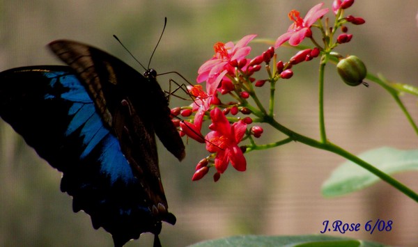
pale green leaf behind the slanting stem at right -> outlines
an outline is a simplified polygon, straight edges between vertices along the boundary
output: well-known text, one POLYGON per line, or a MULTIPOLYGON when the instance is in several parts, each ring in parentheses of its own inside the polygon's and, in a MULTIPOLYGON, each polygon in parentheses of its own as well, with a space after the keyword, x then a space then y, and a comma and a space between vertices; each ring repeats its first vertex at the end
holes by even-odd
MULTIPOLYGON (((397 150, 395 148, 378 148, 358 156, 382 172, 392 175, 406 170, 418 170, 418 150, 397 150)), ((346 161, 336 168, 324 182, 324 196, 341 196, 346 193, 364 189, 380 180, 368 170, 352 161, 346 161)))

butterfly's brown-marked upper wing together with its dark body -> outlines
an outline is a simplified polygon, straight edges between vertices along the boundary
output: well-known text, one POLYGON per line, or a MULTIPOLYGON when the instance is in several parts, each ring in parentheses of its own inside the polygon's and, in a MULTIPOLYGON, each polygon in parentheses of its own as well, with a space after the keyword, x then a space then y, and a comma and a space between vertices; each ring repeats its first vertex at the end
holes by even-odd
POLYGON ((185 157, 185 146, 171 122, 167 99, 154 77, 145 78, 118 58, 80 42, 56 40, 49 47, 86 83, 107 125, 113 125, 115 109, 129 97, 132 107, 150 122, 167 150, 179 160, 185 157))

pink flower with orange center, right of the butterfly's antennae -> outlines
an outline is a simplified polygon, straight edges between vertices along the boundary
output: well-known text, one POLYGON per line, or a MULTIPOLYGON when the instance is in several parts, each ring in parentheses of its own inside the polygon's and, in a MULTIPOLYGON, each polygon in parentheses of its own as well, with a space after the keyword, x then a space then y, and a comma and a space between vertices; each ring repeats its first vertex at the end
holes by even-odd
POLYGON ((201 65, 196 81, 198 83, 206 81, 206 91, 209 94, 214 93, 222 78, 228 72, 226 66, 231 61, 240 61, 245 58, 251 51, 251 47, 247 47, 247 45, 254 38, 256 38, 255 34, 247 35, 236 45, 233 45, 233 42, 227 42, 226 44, 217 42, 213 47, 215 55, 201 65))

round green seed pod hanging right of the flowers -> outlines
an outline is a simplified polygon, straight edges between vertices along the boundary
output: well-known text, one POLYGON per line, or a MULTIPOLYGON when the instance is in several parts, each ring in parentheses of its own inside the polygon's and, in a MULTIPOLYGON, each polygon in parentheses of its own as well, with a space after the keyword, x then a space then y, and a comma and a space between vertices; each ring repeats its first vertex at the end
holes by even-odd
POLYGON ((357 56, 341 59, 336 65, 336 70, 341 79, 349 86, 360 85, 367 74, 366 65, 357 56))

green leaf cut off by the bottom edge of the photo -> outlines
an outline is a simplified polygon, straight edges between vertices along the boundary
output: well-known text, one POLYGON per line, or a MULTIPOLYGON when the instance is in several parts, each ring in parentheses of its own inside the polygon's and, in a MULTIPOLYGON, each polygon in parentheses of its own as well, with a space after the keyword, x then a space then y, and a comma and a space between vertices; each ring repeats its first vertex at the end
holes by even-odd
POLYGON ((226 237, 224 239, 214 239, 193 244, 189 247, 263 247, 263 246, 286 246, 286 247, 382 247, 371 241, 362 241, 350 239, 347 237, 334 237, 330 235, 295 235, 295 236, 259 236, 243 235, 235 237, 226 237))

